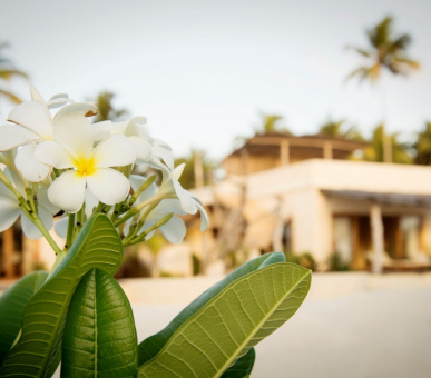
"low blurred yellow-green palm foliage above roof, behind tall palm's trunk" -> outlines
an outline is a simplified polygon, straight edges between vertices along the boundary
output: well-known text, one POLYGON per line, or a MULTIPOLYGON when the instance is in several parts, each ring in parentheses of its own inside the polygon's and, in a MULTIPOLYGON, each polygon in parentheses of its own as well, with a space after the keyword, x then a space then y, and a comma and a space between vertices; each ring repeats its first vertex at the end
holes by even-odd
MULTIPOLYGON (((406 146, 398 141, 396 133, 386 135, 385 137, 391 143, 393 162, 404 165, 410 165, 413 162, 412 157, 408 152, 406 146)), ((364 148, 361 160, 384 162, 383 125, 379 125, 374 129, 370 146, 364 148)))

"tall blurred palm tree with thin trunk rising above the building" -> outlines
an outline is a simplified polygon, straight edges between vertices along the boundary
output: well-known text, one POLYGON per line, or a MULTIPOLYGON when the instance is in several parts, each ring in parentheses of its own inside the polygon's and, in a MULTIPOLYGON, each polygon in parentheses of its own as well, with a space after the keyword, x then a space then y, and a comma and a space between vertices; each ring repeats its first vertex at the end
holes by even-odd
POLYGON ((385 17, 382 22, 376 24, 373 29, 366 31, 370 48, 353 49, 365 58, 366 62, 360 66, 347 77, 360 77, 361 81, 369 79, 371 83, 380 81, 382 89, 382 110, 383 110, 383 156, 385 162, 391 162, 392 150, 391 140, 384 132, 385 121, 385 99, 382 83, 383 69, 389 70, 393 74, 408 74, 411 70, 419 69, 419 63, 406 56, 406 49, 411 43, 409 34, 394 36, 392 29, 392 17, 385 17))

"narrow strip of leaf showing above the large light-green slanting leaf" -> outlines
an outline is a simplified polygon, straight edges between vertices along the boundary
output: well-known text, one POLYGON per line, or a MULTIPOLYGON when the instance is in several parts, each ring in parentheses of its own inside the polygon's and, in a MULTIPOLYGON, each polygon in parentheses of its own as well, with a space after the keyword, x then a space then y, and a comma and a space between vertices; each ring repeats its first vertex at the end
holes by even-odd
POLYGON ((203 308, 210 299, 218 295, 226 286, 235 281, 236 279, 248 275, 252 271, 262 269, 271 263, 284 262, 286 260, 285 255, 282 252, 272 252, 259 256, 239 268, 235 269, 222 281, 212 286, 208 290, 204 291, 197 297, 190 305, 188 305, 182 312, 179 312, 170 324, 160 332, 150 336, 145 339, 138 346, 139 365, 143 365, 154 358, 168 341, 170 336, 183 325, 190 316, 196 314, 203 308))

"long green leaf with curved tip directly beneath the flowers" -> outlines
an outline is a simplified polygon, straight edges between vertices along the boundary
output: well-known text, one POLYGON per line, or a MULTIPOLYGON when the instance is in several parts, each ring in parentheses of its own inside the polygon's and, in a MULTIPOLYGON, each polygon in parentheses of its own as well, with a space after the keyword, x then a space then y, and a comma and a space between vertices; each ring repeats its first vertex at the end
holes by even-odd
POLYGON ((47 377, 59 361, 66 315, 79 280, 92 268, 114 275, 121 257, 121 239, 109 218, 92 216, 27 305, 22 336, 6 357, 0 376, 47 377))

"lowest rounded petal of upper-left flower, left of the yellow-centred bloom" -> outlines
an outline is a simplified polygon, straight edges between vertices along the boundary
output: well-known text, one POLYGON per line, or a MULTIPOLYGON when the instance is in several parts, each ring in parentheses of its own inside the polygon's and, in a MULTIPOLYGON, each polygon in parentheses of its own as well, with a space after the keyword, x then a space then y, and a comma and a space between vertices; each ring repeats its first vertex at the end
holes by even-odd
POLYGON ((35 157, 38 145, 30 143, 18 149, 14 163, 26 180, 31 182, 43 181, 51 172, 51 167, 40 162, 35 157))

